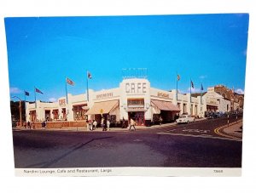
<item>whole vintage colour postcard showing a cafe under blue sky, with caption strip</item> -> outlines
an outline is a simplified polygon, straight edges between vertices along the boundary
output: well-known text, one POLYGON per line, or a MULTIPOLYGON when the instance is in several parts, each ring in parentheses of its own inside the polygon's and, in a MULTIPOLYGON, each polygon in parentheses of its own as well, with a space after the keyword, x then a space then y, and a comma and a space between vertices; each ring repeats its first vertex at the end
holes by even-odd
POLYGON ((17 176, 241 176, 248 14, 5 18, 17 176))

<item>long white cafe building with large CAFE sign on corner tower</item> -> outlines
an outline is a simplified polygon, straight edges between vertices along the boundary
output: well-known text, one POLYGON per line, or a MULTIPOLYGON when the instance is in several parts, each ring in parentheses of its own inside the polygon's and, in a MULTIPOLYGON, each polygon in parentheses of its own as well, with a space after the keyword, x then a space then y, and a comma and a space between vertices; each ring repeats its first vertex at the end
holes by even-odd
MULTIPOLYGON (((89 72, 87 81, 88 78, 91 78, 89 72)), ((73 85, 73 81, 67 78, 67 84, 73 85)), ((26 102, 26 122, 61 122, 61 126, 73 126, 75 122, 82 127, 87 119, 100 123, 103 116, 112 127, 119 126, 123 119, 128 125, 131 118, 138 126, 150 126, 158 123, 160 116, 163 122, 173 122, 183 113, 203 117, 206 111, 230 111, 230 100, 211 88, 197 97, 191 93, 179 94, 177 89, 152 88, 147 76, 140 75, 125 76, 118 88, 101 91, 87 88, 84 94, 67 94, 57 102, 26 102)))

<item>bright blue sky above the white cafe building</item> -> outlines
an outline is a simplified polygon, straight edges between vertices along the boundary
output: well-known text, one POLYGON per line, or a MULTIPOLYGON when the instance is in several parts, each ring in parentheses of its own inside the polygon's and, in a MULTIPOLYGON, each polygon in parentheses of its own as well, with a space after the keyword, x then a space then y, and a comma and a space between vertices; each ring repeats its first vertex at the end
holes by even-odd
POLYGON ((147 68, 151 87, 244 91, 248 14, 6 18, 10 96, 34 100, 117 88, 123 68, 147 68))

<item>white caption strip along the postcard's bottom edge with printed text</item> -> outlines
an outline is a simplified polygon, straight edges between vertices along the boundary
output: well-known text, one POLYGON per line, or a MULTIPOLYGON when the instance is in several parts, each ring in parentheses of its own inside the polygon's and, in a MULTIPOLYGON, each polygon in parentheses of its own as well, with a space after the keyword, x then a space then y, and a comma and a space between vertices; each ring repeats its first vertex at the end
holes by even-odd
POLYGON ((240 177, 241 167, 65 167, 15 168, 18 177, 183 176, 240 177))

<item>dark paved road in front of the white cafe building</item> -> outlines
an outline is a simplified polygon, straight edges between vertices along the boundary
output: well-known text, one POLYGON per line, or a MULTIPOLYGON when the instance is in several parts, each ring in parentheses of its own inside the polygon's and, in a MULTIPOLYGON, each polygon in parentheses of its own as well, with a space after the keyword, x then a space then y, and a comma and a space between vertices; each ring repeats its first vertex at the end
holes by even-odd
POLYGON ((225 123, 136 132, 14 131, 15 167, 241 167, 241 140, 214 132, 225 123))

